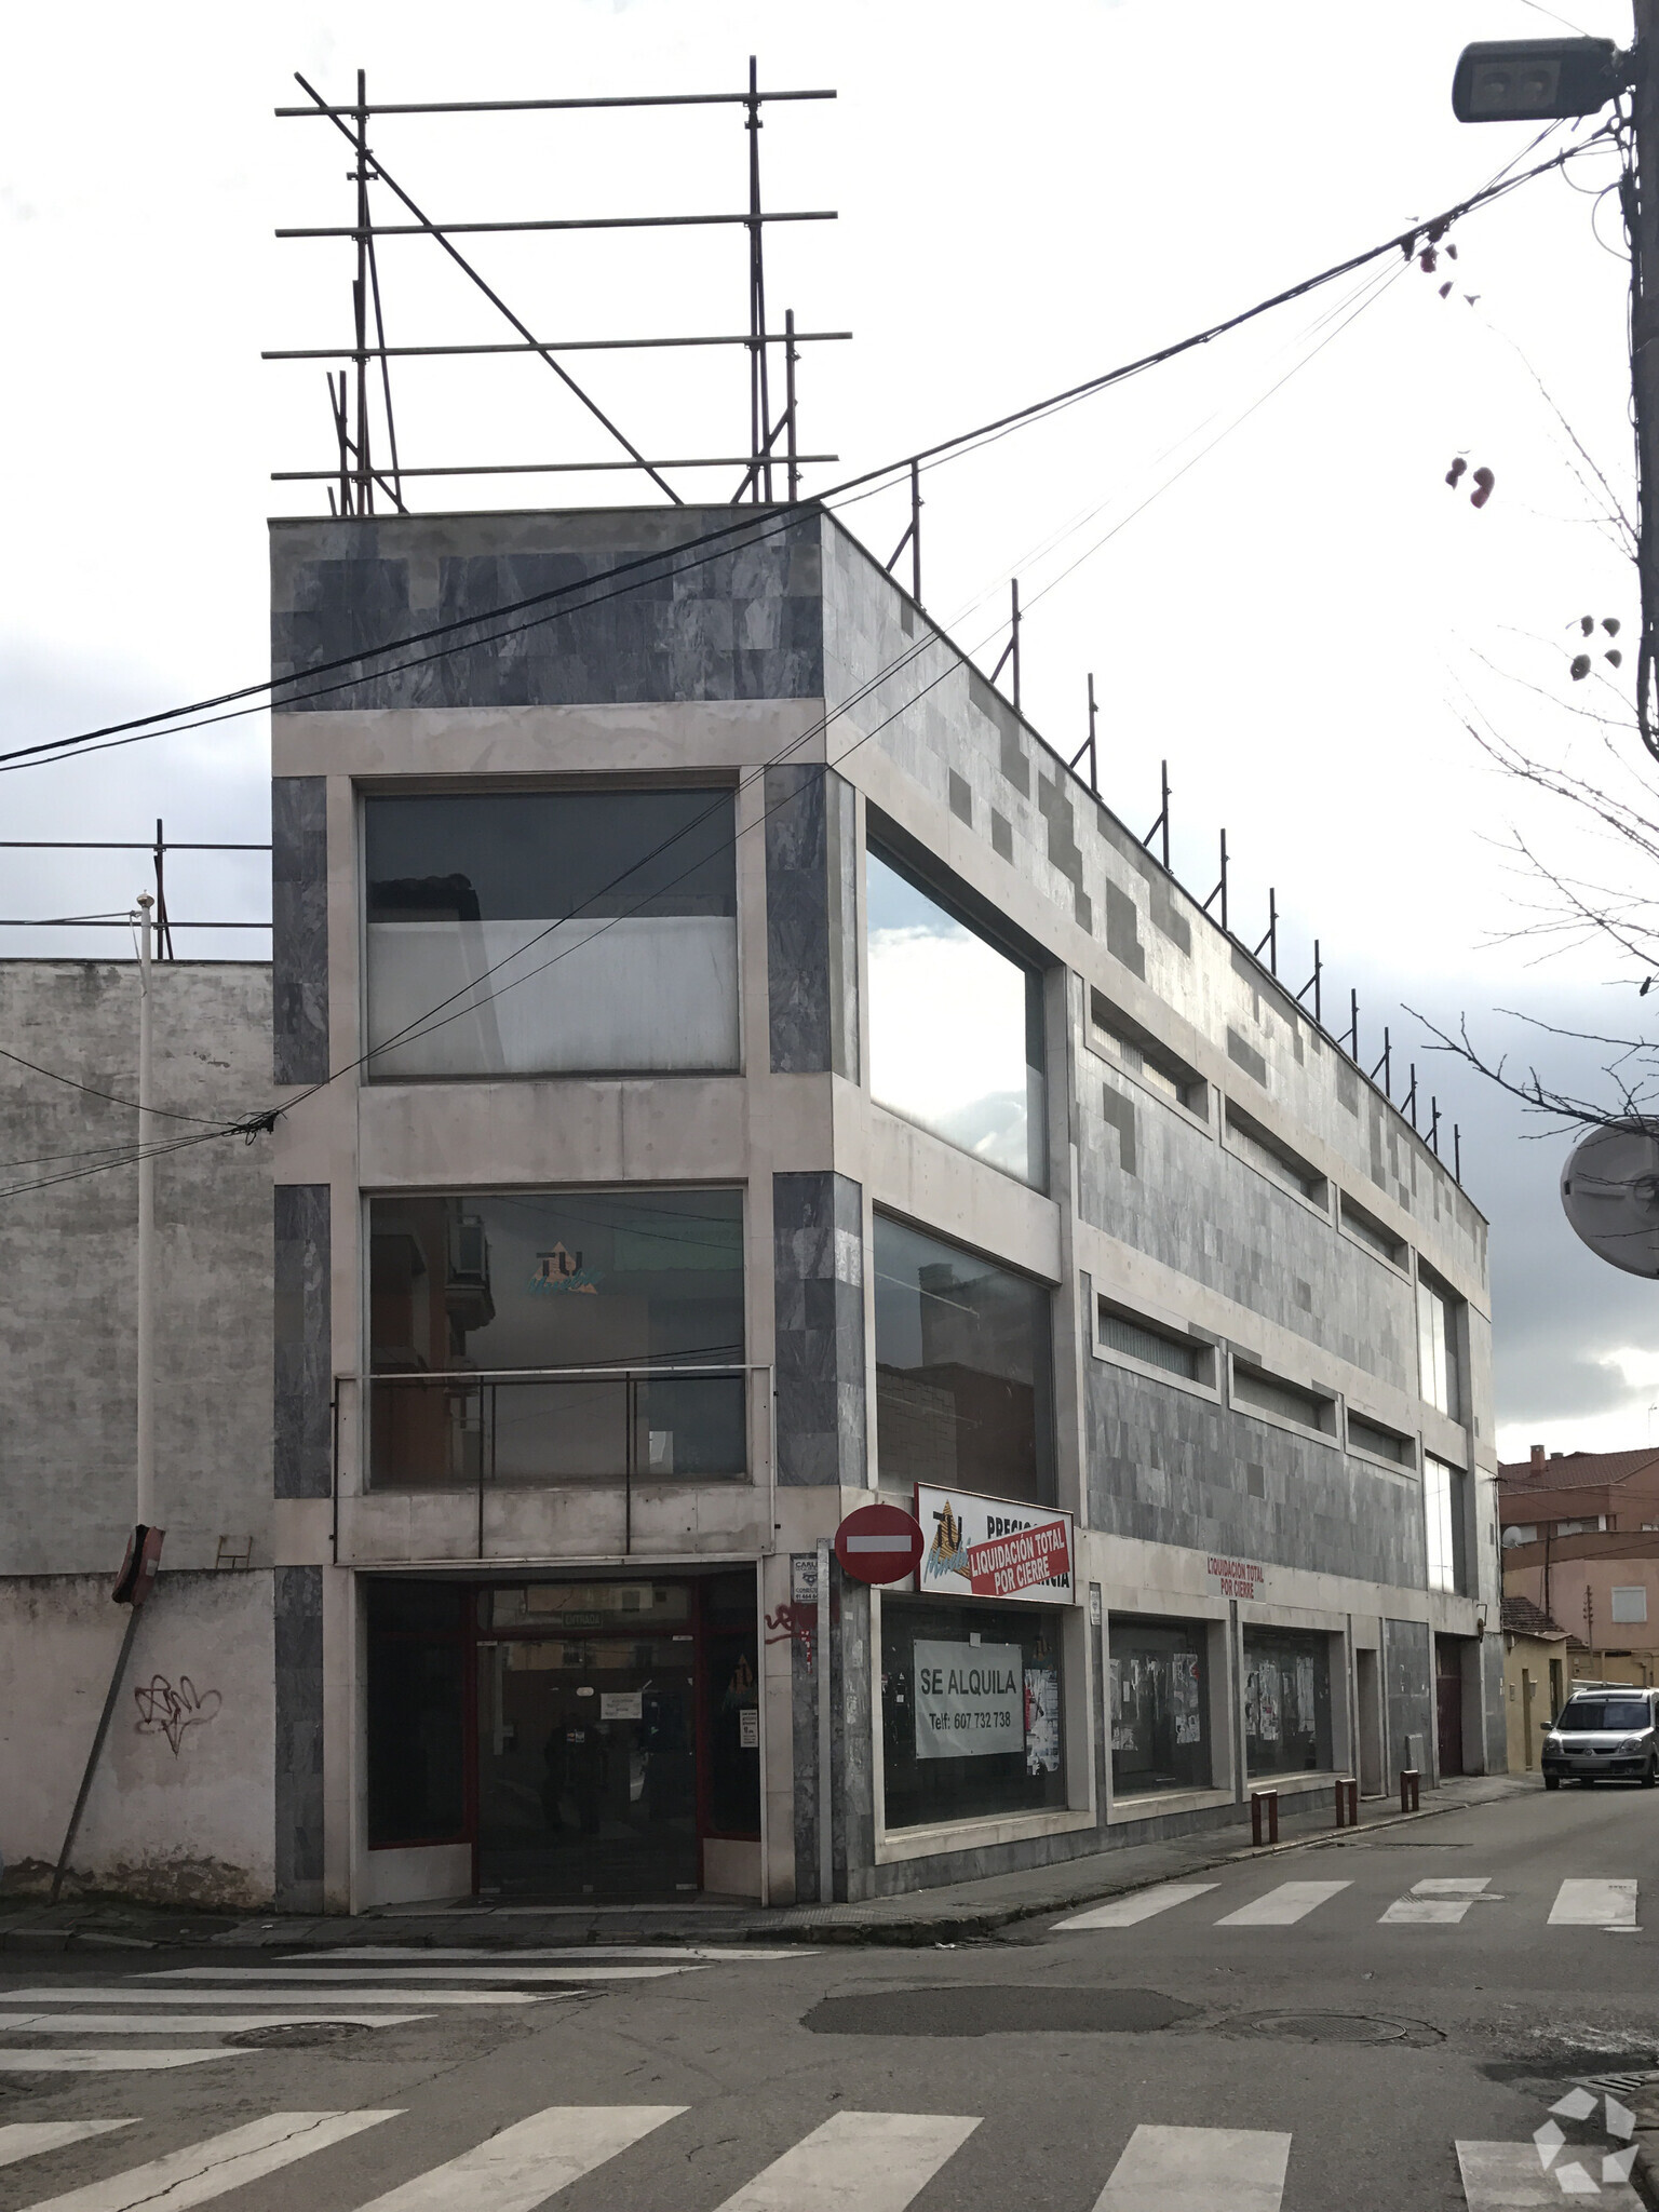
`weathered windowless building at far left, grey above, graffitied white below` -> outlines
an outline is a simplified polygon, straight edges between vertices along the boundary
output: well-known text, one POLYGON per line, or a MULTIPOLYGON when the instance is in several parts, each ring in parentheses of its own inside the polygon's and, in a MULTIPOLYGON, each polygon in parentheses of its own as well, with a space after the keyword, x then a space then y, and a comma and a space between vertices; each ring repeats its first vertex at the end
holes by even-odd
MULTIPOLYGON (((270 1097, 270 967, 153 971, 161 1577, 139 1615, 75 1874, 168 1902, 285 1880, 276 1655, 292 1582, 270 1484, 270 1139, 195 1141, 270 1097)), ((126 1613, 135 1520, 137 967, 0 960, 0 1860, 69 1827, 126 1613), (33 1190, 18 1186, 35 1183, 33 1190)))

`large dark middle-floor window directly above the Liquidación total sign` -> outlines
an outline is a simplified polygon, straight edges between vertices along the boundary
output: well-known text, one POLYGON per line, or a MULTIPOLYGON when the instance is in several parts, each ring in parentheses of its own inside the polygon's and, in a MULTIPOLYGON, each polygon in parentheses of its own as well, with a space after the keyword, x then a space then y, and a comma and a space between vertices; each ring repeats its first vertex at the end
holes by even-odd
POLYGON ((876 1451, 887 1484, 1053 1504, 1048 1290, 876 1214, 876 1451))

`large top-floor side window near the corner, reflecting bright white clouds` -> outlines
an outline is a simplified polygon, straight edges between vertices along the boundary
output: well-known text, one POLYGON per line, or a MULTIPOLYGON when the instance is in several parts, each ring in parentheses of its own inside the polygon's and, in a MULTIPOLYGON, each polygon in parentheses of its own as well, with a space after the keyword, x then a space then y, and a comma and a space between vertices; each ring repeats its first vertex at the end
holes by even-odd
POLYGON ((874 847, 867 916, 869 1095, 1042 1188, 1042 975, 874 847))

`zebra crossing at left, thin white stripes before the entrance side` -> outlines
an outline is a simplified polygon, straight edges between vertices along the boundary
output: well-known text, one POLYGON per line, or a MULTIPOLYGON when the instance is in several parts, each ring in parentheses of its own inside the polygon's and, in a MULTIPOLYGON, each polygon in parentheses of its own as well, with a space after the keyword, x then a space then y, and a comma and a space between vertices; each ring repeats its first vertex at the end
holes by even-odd
POLYGON ((274 1964, 166 1966, 119 1982, 0 1986, 0 2075, 206 2066, 259 2051, 259 2044, 210 2037, 263 2028, 405 2028, 456 2011, 504 2013, 580 1991, 653 1986, 721 1964, 805 1955, 801 1947, 763 1951, 748 1944, 584 1944, 511 1953, 358 1944, 288 1953, 274 1964), (88 2042, 75 2044, 75 2037, 88 2042))

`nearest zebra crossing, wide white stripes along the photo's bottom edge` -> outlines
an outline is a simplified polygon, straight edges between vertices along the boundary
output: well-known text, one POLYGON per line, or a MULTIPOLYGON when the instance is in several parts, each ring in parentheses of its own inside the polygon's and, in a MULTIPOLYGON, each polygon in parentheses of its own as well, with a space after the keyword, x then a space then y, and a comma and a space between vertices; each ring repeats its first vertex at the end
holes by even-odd
MULTIPOLYGON (((38 2197, 27 2212, 142 2212, 161 2201, 168 2212, 188 2212, 367 2130, 385 2130, 376 2139, 376 2166, 396 2172, 407 2159, 398 2141, 398 2121, 407 2117, 405 2108, 268 2112, 38 2197)), ((352 2212, 538 2212, 586 2174, 641 2146, 657 2152, 661 2170, 684 2177, 695 2132, 679 2130, 679 2121, 695 2130, 690 2106, 546 2106, 380 2194, 358 2199, 352 2212)), ((0 2166, 51 2161, 53 2152, 119 2137, 135 2126, 137 2117, 0 2126, 0 2166)), ((907 2212, 982 2126, 982 2115, 973 2112, 834 2112, 761 2166, 714 2212, 847 2212, 849 2205, 858 2212, 907 2212)), ((1449 2148, 1467 2212, 1535 2212, 1562 2199, 1562 2177, 1551 2170, 1555 2150, 1542 2139, 1458 2141, 1449 2148)), ((115 2141, 111 2152, 119 2154, 115 2141)), ((1144 2124, 1106 2172, 1093 2212, 1281 2212, 1294 2154, 1296 2139, 1267 2128, 1144 2124)), ((637 2185, 639 2172, 630 2168, 628 2181, 637 2185)), ((1082 2179, 1084 2188, 1093 2188, 1093 2177, 1082 2179)), ((305 2183, 316 2201, 345 2201, 316 2170, 305 2183)), ((1608 2212, 1641 2212, 1624 2157, 1608 2161, 1595 2194, 1608 2212)))

